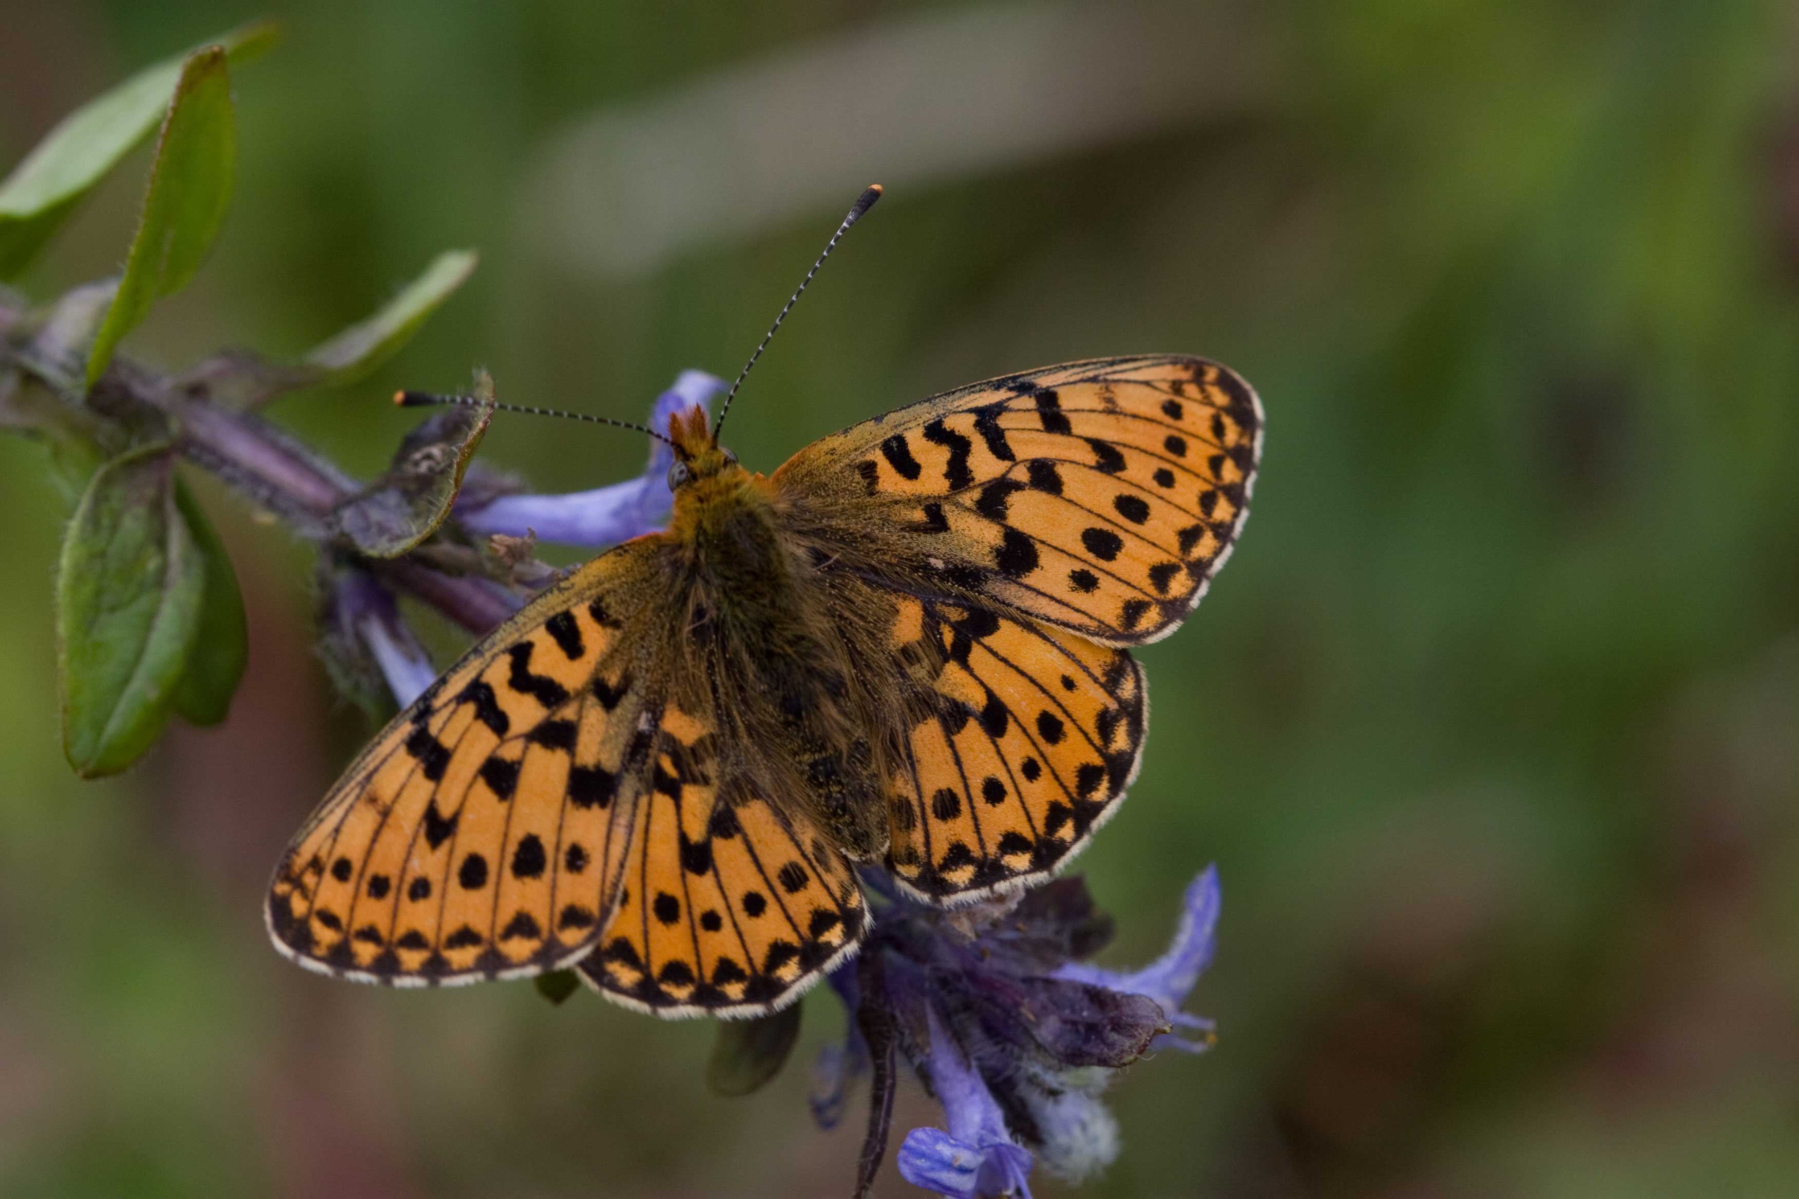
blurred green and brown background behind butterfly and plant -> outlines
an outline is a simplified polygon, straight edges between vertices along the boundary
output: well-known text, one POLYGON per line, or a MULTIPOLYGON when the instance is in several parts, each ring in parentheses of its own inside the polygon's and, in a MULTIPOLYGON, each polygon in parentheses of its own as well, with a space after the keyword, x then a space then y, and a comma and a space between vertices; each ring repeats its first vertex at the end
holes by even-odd
MULTIPOLYGON (((263 14, 13 0, 0 171, 140 65, 263 14)), ((1159 951, 1207 861, 1205 1059, 1112 1093, 1083 1195, 1799 1194, 1799 11, 1772 0, 336 5, 234 72, 239 187, 128 351, 293 354, 441 248, 473 282, 353 392, 272 413, 369 475, 394 386, 640 419, 730 376, 772 469, 1072 358, 1263 394, 1256 512, 1081 866, 1159 951)), ((25 279, 122 259, 148 156, 25 279)), ((639 469, 502 419, 543 489, 639 469)), ((0 439, 0 1194, 831 1195, 806 1044, 711 1097, 711 1028, 527 983, 387 992, 264 944, 297 822, 371 730, 306 554, 203 489, 252 663, 130 775, 61 762, 61 496, 0 439)), ((930 1122, 914 1084, 896 1127, 930 1122)), ((851 1120, 858 1124, 860 1116, 851 1120)), ((896 1138, 898 1141, 898 1138, 896 1138)), ((1042 1174, 1038 1194, 1063 1194, 1042 1174)), ((916 1194, 891 1170, 878 1194, 916 1194)))

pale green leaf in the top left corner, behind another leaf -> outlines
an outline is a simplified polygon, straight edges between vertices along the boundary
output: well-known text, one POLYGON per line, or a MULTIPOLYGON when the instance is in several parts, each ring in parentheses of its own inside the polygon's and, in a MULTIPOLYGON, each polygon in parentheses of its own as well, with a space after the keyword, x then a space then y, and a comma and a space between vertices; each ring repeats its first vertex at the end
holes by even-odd
MULTIPOLYGON (((219 43, 234 63, 273 45, 272 22, 245 25, 219 43)), ((0 279, 16 277, 50 239, 76 203, 144 140, 169 108, 182 77, 171 58, 65 117, 0 183, 0 279)))

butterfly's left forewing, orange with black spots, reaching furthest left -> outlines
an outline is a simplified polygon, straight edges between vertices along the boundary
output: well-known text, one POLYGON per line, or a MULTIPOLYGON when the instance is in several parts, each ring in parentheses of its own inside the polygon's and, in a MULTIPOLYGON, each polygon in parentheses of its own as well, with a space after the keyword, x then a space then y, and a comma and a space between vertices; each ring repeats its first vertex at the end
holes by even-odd
POLYGON ((648 786, 642 546, 538 597, 401 712, 270 886, 275 946, 358 980, 450 983, 572 962, 615 904, 648 786))

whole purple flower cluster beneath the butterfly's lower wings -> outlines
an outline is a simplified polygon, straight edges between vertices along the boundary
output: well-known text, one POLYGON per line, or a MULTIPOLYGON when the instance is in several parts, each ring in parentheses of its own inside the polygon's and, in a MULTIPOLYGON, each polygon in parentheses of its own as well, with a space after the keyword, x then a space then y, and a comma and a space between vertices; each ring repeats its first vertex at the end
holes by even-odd
POLYGON ((833 976, 851 1032, 819 1068, 835 1113, 856 1064, 873 1064, 864 1192, 883 1154, 898 1057, 943 1104, 946 1125, 912 1129, 900 1172, 973 1199, 1029 1195, 1036 1159, 1070 1181, 1114 1161, 1119 1136, 1099 1098, 1105 1088, 1155 1044, 1202 1048, 1171 1037, 1173 1025, 1211 1037, 1209 1021, 1180 1010, 1213 955, 1211 868, 1187 888, 1169 951, 1133 973, 1081 962, 1110 940, 1112 922, 1079 879, 941 911, 898 895, 880 872, 864 877, 889 902, 862 956, 833 976))

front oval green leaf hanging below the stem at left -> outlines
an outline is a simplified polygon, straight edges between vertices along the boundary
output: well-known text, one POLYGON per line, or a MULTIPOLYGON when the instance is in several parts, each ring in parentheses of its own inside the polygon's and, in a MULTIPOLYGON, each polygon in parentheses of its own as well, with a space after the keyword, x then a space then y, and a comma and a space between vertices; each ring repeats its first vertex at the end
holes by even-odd
POLYGON ((175 503, 167 446, 94 473, 56 579, 63 753, 83 778, 113 775, 169 719, 200 629, 205 559, 175 503))

